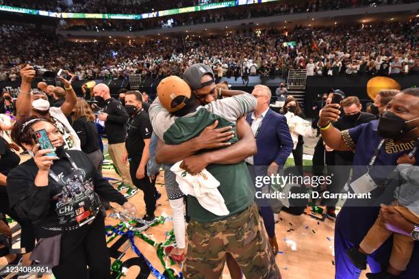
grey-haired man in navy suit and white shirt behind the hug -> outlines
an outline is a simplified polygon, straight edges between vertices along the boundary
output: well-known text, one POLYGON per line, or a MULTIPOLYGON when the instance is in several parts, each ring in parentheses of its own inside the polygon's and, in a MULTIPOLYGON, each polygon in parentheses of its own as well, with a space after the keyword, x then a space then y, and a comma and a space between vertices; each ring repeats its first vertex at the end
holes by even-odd
MULTIPOLYGON (((276 174, 278 168, 283 168, 283 165, 285 165, 294 144, 285 116, 277 114, 269 108, 272 93, 268 86, 256 85, 252 95, 257 98, 257 105, 255 111, 247 115, 246 120, 251 125, 253 135, 255 135, 257 153, 245 161, 250 166, 249 172, 254 178, 255 176, 276 174)), ((268 233, 270 243, 276 254, 278 244, 275 237, 275 220, 272 208, 266 201, 257 200, 257 203, 264 220, 266 233, 268 233)))

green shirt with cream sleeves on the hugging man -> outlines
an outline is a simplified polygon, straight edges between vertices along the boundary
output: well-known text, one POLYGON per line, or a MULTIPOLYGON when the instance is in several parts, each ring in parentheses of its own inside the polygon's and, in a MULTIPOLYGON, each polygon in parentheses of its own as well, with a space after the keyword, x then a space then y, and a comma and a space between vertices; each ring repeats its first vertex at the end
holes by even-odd
MULTIPOLYGON (((208 105, 198 107, 196 111, 181 118, 172 116, 160 104, 158 98, 149 109, 153 131, 166 144, 181 144, 198 136, 205 127, 218 120, 217 128, 231 126, 235 131, 231 144, 238 141, 236 121, 253 111, 256 98, 251 94, 242 94, 223 98, 208 105)), ((217 216, 203 209, 193 196, 188 196, 188 215, 198 222, 214 222, 230 215, 240 213, 253 202, 255 189, 244 161, 231 165, 210 164, 207 170, 220 182, 218 191, 223 196, 230 214, 217 216)))

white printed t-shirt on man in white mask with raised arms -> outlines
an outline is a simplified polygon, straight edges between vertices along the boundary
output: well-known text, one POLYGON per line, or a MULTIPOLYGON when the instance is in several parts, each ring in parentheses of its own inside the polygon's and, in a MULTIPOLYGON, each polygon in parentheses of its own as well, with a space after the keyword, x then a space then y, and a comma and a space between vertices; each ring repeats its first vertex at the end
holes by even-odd
POLYGON ((62 113, 61 107, 50 107, 49 116, 57 127, 58 131, 64 137, 64 145, 66 149, 81 150, 80 139, 74 131, 66 116, 62 113))

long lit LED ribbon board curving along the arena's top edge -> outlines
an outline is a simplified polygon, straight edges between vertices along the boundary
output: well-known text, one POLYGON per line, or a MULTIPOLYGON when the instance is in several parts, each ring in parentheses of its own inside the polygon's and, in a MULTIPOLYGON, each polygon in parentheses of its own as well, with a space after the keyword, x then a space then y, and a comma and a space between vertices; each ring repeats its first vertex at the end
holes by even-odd
POLYGON ((102 18, 102 19, 130 19, 140 20, 145 18, 156 18, 160 16, 172 16, 174 14, 183 14, 188 12, 199 12, 204 10, 214 10, 219 8, 234 7, 238 5, 252 5, 258 3, 276 2, 280 0, 235 0, 221 3, 211 3, 204 5, 195 5, 185 8, 176 8, 164 11, 149 12, 145 14, 89 14, 89 13, 72 13, 72 12, 47 12, 40 10, 31 10, 25 8, 11 7, 0 5, 0 11, 16 12, 21 14, 32 14, 35 16, 49 16, 53 18, 102 18))

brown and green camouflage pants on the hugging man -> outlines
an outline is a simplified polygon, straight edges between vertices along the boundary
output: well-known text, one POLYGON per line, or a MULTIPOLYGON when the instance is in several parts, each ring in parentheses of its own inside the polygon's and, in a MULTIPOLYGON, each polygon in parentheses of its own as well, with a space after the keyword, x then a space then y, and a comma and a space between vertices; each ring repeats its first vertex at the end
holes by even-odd
POLYGON ((249 279, 281 278, 256 204, 212 223, 188 224, 185 278, 220 278, 229 252, 249 279))

